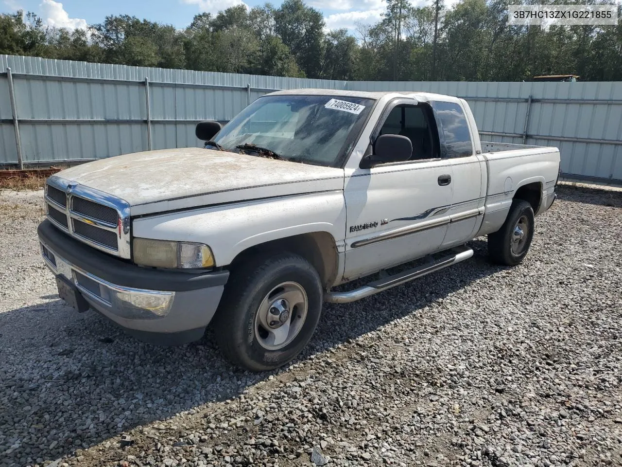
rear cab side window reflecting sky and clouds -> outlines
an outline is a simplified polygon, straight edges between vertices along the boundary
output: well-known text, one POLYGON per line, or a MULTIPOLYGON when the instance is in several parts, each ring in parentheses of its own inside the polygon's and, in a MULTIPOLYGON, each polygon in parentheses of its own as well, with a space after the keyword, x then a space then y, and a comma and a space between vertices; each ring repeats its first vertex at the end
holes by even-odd
POLYGON ((465 158, 473 155, 473 144, 466 116, 460 105, 453 102, 432 101, 439 126, 442 158, 465 158))

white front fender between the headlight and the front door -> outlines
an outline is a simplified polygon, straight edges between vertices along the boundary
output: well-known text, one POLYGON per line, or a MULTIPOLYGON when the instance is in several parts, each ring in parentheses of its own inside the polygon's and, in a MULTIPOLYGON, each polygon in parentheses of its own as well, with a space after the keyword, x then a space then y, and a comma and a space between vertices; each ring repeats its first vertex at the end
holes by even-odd
POLYGON ((327 232, 343 240, 343 191, 328 191, 169 212, 134 219, 134 237, 209 245, 216 266, 246 248, 293 235, 327 232))

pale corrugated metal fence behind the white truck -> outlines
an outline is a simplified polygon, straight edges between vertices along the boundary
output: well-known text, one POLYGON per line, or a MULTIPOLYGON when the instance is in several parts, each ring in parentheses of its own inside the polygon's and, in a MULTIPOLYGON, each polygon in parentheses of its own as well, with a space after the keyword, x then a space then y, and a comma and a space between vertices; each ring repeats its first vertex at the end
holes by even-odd
POLYGON ((6 68, 24 164, 149 149, 147 120, 152 149, 200 146, 197 121, 230 120, 276 89, 421 90, 466 98, 483 139, 555 145, 565 174, 622 181, 622 83, 346 82, 0 55, 4 165, 18 160, 6 68))

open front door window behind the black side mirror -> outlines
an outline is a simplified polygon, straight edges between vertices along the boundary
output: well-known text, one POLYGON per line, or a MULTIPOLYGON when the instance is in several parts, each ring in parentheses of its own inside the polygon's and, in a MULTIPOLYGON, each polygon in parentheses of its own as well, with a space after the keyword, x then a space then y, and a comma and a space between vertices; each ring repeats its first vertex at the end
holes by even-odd
POLYGON ((436 156, 428 112, 421 106, 397 105, 384 120, 380 134, 400 134, 412 143, 411 161, 432 159, 436 156))

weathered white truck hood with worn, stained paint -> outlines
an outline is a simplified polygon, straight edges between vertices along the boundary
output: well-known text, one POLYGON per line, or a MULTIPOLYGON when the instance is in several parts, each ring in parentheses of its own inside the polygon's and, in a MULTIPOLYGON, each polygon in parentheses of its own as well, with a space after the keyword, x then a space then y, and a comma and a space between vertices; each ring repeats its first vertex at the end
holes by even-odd
POLYGON ((343 189, 343 169, 203 148, 124 154, 57 176, 125 200, 131 215, 343 189))

